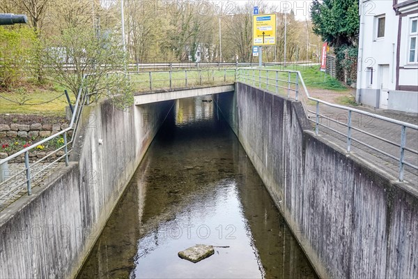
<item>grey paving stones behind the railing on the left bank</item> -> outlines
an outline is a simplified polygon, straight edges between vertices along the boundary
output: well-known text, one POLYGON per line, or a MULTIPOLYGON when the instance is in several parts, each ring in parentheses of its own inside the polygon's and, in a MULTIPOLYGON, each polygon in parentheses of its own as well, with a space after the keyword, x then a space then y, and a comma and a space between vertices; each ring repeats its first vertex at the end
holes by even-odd
MULTIPOLYGON (((31 174, 36 174, 47 165, 49 165, 49 163, 38 163, 37 165, 31 166, 31 174)), ((56 170, 61 167, 65 167, 65 163, 54 163, 44 172, 34 176, 31 181, 31 187, 40 187, 42 182, 45 182, 45 180, 50 177, 51 174, 56 172, 56 170)), ((24 163, 8 164, 8 174, 10 176, 14 176, 15 174, 17 175, 15 178, 10 179, 10 181, 0 186, 0 211, 5 209, 7 206, 15 202, 23 195, 27 195, 28 190, 26 188, 26 183, 24 183, 24 181, 26 181, 26 172, 24 172, 24 169, 24 163)))

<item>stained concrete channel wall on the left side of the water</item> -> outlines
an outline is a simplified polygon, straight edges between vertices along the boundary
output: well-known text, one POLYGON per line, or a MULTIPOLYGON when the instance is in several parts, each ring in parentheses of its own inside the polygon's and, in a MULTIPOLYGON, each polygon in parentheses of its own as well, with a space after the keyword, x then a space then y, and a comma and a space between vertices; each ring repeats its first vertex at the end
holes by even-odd
POLYGON ((1 211, 0 278, 77 274, 172 105, 85 107, 70 166, 1 211))

